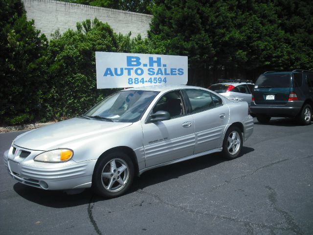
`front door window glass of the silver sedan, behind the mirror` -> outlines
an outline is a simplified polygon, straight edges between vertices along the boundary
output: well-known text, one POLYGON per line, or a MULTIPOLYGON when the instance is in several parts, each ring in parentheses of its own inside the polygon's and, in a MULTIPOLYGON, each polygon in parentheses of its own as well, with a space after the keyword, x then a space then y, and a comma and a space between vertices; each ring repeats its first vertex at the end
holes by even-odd
POLYGON ((164 94, 153 108, 153 113, 167 111, 171 118, 177 118, 184 114, 182 98, 179 91, 164 94))

